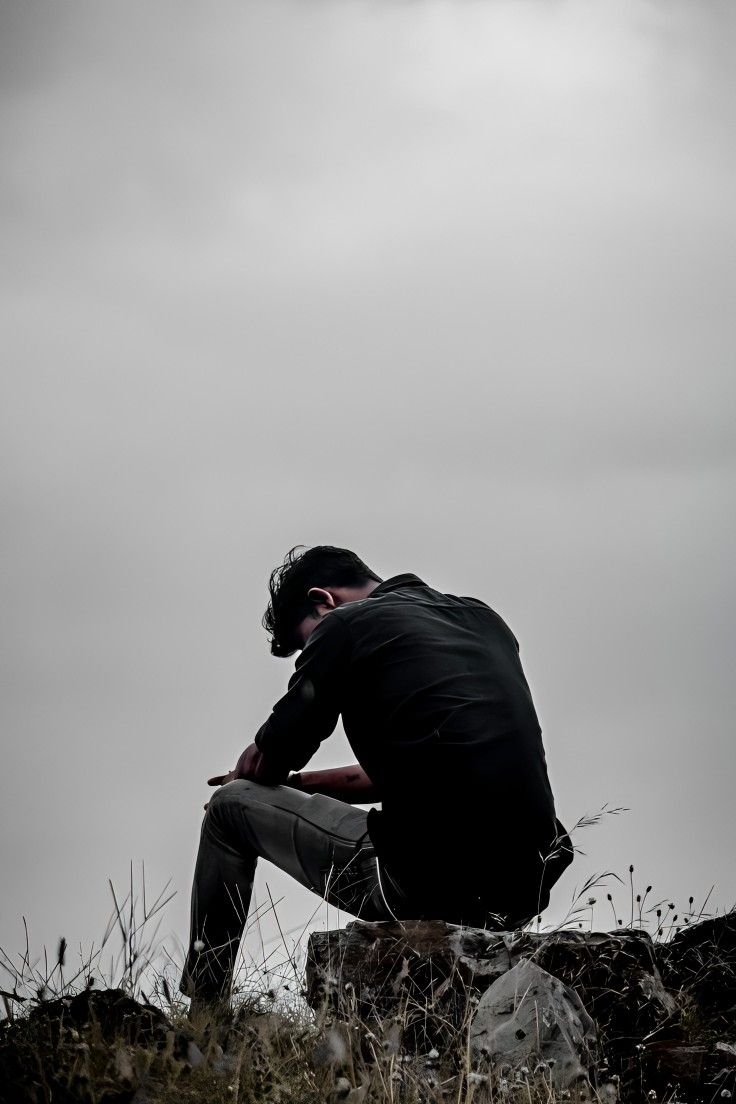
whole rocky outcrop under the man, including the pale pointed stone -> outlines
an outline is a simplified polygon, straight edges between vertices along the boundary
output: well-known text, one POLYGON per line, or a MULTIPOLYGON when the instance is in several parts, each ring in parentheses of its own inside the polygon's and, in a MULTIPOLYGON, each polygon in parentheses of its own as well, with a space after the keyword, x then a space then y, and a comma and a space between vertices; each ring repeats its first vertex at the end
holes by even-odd
POLYGON ((337 1019, 393 1017, 415 1053, 469 1029, 478 1061, 547 1069, 558 1089, 597 1079, 599 1091, 615 1085, 630 1098, 644 1083, 657 1094, 681 1085, 693 1100, 716 1090, 727 1098, 735 978, 733 913, 657 944, 638 931, 355 922, 310 937, 307 997, 337 1019))

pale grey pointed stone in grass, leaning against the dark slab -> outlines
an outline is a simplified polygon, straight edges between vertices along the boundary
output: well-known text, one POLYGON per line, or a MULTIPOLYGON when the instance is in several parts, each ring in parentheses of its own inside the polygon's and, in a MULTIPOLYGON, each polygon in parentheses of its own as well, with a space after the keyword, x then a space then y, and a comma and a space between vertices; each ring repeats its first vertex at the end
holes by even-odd
POLYGON ((547 1071, 556 1090, 590 1084, 598 1060, 595 1023, 568 986, 530 958, 498 978, 480 998, 470 1047, 501 1073, 547 1071))

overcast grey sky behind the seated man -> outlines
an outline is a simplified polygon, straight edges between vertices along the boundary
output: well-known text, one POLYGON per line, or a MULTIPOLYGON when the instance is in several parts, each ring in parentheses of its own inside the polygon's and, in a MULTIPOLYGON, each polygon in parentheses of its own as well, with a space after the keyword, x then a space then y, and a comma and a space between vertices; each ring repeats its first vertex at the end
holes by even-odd
POLYGON ((0 945, 99 938, 130 859, 183 935, 296 543, 510 623, 559 816, 630 809, 550 916, 629 863, 733 904, 733 6, 0 21, 0 945))

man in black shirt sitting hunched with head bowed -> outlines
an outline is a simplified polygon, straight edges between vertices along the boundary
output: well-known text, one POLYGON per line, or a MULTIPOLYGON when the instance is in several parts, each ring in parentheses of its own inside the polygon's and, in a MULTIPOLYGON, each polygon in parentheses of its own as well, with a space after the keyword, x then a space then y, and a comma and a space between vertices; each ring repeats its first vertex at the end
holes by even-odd
POLYGON ((255 742, 210 779, 182 991, 227 995, 258 858, 364 920, 536 915, 573 851, 501 617, 331 545, 292 549, 269 591, 271 652, 300 656, 255 742), (358 765, 290 775, 339 716, 358 765))

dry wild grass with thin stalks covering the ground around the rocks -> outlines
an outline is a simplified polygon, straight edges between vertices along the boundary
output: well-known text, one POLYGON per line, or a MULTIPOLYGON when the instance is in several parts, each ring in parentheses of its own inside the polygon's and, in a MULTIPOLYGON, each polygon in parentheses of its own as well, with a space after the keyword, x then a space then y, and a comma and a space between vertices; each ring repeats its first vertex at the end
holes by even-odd
MULTIPOLYGON (((696 910, 692 898, 681 911, 668 899, 652 898, 651 887, 637 892, 633 873, 630 868, 628 885, 612 874, 590 879, 576 891, 557 927, 594 930, 596 910, 604 909, 612 913, 609 928, 648 931, 662 943, 678 927, 703 919, 705 905, 696 910), (623 905, 611 893, 601 894, 610 878, 627 895, 623 905)), ((51 958, 45 952, 32 956, 28 934, 19 955, 0 951, 2 1104, 569 1101, 568 1094, 555 1093, 543 1063, 511 1073, 471 1060, 473 1000, 444 1005, 445 981, 419 998, 405 994, 388 1017, 378 1010, 366 1015, 364 1007, 359 1015, 356 1006, 351 1012, 349 1004, 340 1018, 327 1007, 314 1012, 301 996, 303 938, 287 946, 281 935, 280 947, 264 953, 259 963, 242 959, 232 1007, 190 1016, 188 1001, 175 989, 180 963, 159 941, 162 912, 172 895, 168 887, 151 899, 145 871, 136 885, 131 869, 126 893, 111 884, 110 893, 113 912, 104 937, 98 947, 79 951, 75 966, 65 940, 51 958), (451 1011, 445 1016, 444 1008, 451 1011), (423 1034, 418 1028, 430 1020, 431 1032, 423 1034)), ((263 912, 273 912, 278 924, 277 904, 269 898, 250 922, 259 924, 263 912)), ((541 920, 531 927, 542 931, 541 920)), ((682 1012, 697 1041, 702 1025, 686 999, 682 1012)), ((608 1079, 593 1097, 610 1104, 615 1082, 608 1079)), ((639 1090, 628 1098, 651 1101, 643 1075, 639 1090)), ((589 1097, 590 1091, 582 1095, 589 1097)), ((674 1089, 661 1096, 685 1098, 708 1096, 679 1096, 674 1089)))

